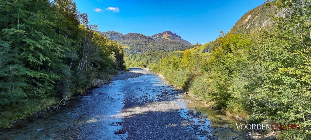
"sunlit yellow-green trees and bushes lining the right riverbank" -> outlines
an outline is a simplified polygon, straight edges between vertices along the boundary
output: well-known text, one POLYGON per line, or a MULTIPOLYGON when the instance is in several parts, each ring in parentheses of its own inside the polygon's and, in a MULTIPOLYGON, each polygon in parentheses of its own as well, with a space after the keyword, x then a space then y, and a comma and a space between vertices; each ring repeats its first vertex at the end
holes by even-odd
POLYGON ((311 139, 311 3, 275 0, 263 6, 284 16, 273 15, 273 24, 248 34, 223 33, 204 49, 209 55, 147 52, 127 55, 126 63, 147 66, 248 123, 302 124, 301 130, 276 132, 278 139, 311 139))

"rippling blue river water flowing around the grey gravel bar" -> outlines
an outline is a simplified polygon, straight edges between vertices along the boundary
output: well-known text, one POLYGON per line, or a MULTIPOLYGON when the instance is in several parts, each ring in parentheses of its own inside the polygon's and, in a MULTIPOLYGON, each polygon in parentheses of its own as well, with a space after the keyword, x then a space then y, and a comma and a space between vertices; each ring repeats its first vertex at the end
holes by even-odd
MULTIPOLYGON (((133 70, 141 69, 131 68, 130 72, 133 70)), ((139 99, 141 103, 146 100, 145 98, 154 102, 162 100, 159 98, 161 92, 158 92, 158 89, 174 92, 174 96, 167 100, 174 101, 180 106, 180 117, 191 122, 185 131, 192 131, 197 139, 208 139, 210 138, 208 136, 221 140, 247 139, 245 132, 235 127, 235 123, 243 124, 243 122, 219 114, 202 101, 173 89, 155 73, 142 71, 146 71, 147 74, 116 80, 99 88, 90 89, 86 96, 78 96, 57 111, 43 112, 37 117, 21 120, 11 129, 0 130, 0 139, 127 139, 127 132, 114 133, 123 127, 121 110, 125 100, 139 99), (143 91, 148 92, 148 96, 145 96, 143 91)))

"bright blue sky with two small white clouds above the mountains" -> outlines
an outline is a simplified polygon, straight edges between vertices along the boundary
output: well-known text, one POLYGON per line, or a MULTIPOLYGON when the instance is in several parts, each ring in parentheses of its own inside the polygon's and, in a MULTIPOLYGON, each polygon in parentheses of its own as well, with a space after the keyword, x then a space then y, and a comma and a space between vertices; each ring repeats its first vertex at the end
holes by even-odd
POLYGON ((75 0, 100 31, 154 35, 170 30, 204 44, 227 32, 248 10, 265 0, 75 0))

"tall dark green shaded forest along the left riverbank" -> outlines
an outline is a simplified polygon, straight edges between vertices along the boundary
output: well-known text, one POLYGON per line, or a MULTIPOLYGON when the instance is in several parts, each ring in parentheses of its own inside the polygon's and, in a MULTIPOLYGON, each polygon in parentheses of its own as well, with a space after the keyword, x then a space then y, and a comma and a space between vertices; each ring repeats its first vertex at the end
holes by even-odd
POLYGON ((2 128, 124 68, 123 46, 96 32, 72 0, 0 0, 0 16, 2 128))

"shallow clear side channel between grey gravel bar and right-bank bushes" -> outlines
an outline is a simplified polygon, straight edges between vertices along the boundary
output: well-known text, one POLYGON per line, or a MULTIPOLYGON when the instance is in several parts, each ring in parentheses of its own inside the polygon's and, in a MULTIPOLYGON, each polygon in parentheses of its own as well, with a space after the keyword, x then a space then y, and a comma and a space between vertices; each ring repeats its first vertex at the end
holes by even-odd
MULTIPOLYGON (((180 110, 181 116, 192 119, 193 126, 199 126, 198 129, 207 133, 207 135, 215 135, 220 140, 227 140, 231 138, 246 140, 244 130, 238 130, 235 123, 245 124, 245 122, 239 121, 230 116, 220 114, 215 110, 207 107, 204 102, 196 100, 194 97, 189 95, 181 95, 182 101, 178 101, 183 107, 180 110), (187 112, 193 110, 199 114, 196 117, 191 117, 187 112)), ((192 128, 193 129, 193 128, 192 128)), ((203 134, 198 135, 199 139, 206 139, 203 134), (201 137, 202 136, 202 137, 201 137)))

